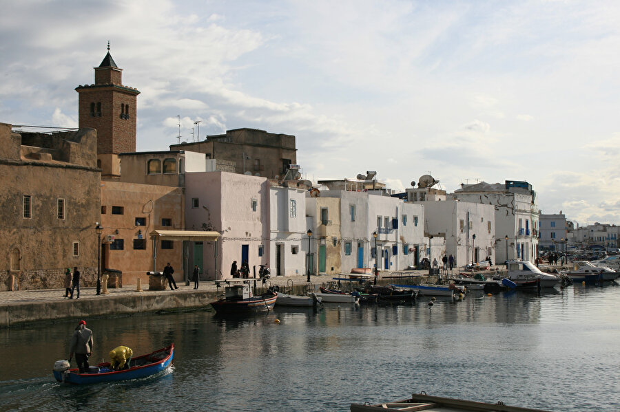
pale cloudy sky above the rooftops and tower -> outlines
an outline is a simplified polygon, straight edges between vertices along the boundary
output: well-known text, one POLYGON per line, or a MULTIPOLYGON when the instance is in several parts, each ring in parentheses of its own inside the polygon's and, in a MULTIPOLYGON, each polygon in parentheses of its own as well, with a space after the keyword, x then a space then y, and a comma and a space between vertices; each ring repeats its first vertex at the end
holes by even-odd
POLYGON ((0 6, 0 122, 77 127, 110 41, 138 151, 256 128, 295 135, 310 180, 526 180, 542 213, 620 224, 618 1, 0 6))

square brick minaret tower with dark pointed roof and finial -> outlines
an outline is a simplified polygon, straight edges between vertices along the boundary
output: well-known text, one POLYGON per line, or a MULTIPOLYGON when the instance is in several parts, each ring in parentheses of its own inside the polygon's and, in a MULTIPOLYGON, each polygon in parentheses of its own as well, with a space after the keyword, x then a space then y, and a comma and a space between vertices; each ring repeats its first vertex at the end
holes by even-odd
POLYGON ((117 175, 118 153, 136 151, 136 101, 140 91, 123 86, 123 69, 110 56, 109 42, 105 58, 94 71, 94 85, 75 88, 79 94, 79 127, 96 129, 98 166, 103 175, 117 175))

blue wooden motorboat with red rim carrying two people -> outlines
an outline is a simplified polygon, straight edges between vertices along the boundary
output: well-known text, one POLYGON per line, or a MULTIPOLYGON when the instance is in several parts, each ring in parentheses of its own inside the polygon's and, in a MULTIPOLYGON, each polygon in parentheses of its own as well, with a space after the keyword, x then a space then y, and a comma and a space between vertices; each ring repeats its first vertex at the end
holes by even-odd
POLYGON ((99 365, 91 366, 89 373, 79 373, 78 368, 69 369, 69 362, 67 360, 58 360, 54 364, 53 373, 57 381, 65 383, 92 384, 115 382, 117 380, 152 376, 172 365, 173 358, 174 343, 150 354, 132 358, 130 368, 123 369, 122 371, 114 371, 110 369, 110 362, 103 362, 99 365))

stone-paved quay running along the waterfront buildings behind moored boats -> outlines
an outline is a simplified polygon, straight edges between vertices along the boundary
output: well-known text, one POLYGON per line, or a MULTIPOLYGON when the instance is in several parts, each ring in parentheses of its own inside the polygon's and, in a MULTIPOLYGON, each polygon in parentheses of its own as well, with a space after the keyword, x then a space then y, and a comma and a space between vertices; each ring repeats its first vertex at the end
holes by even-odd
MULTIPOLYGON (((454 271, 458 273, 457 270, 454 271)), ((502 276, 503 266, 494 266, 490 270, 479 271, 486 276, 502 276)), ((337 277, 334 274, 312 275, 310 284, 307 277, 271 277, 266 284, 256 279, 258 293, 270 285, 278 285, 280 290, 293 294, 303 294, 308 288, 318 290, 320 285, 327 285, 337 277), (292 289, 292 290, 291 290, 292 289)), ((378 284, 411 284, 437 281, 436 276, 429 276, 428 270, 410 270, 406 272, 380 272, 378 284), (399 280, 400 279, 400 280, 399 280)), ((96 294, 96 288, 81 288, 80 299, 66 299, 64 289, 17 290, 0 292, 0 328, 23 327, 32 323, 66 322, 81 318, 102 316, 133 316, 157 312, 175 312, 185 310, 211 310, 209 303, 217 300, 218 290, 214 281, 201 281, 198 290, 194 283, 178 282, 177 290, 149 290, 148 286, 141 292, 136 285, 123 288, 108 288, 107 294, 96 294)), ((220 293, 223 290, 220 288, 220 293)))

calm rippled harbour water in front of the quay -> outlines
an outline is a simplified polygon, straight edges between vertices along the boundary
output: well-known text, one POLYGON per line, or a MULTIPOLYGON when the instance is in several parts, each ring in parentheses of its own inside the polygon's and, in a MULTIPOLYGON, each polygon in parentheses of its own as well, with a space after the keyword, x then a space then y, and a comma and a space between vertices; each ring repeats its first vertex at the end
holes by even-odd
POLYGON ((190 312, 87 319, 92 363, 117 345, 174 342, 174 368, 72 387, 51 374, 74 323, 0 330, 0 411, 348 411, 426 391, 552 411, 620 411, 620 287, 540 296, 278 310, 252 318, 190 312), (276 318, 280 324, 276 324, 276 318))

